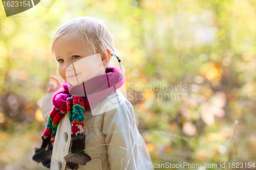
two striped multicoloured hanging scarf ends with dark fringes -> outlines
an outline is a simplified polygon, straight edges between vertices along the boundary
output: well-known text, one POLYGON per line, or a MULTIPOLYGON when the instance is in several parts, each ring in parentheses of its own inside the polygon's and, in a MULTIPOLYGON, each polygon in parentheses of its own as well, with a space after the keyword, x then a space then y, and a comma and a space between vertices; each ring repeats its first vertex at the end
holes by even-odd
MULTIPOLYGON (((70 169, 77 169, 79 164, 85 165, 91 160, 91 157, 88 154, 83 153, 85 148, 84 140, 86 139, 83 123, 84 111, 84 102, 81 96, 71 96, 70 98, 67 98, 67 114, 71 124, 72 145, 71 153, 65 156, 65 160, 70 169)), ((52 152, 52 144, 55 139, 58 124, 63 116, 65 116, 65 113, 55 107, 53 107, 48 116, 46 130, 42 135, 43 143, 48 143, 51 146, 50 148, 48 147, 47 153, 52 152), (49 143, 49 138, 51 143, 49 143)), ((44 152, 46 152, 46 150, 40 151, 40 149, 37 149, 37 154, 34 155, 33 160, 36 161, 36 158, 41 157, 41 154, 44 152)), ((50 167, 50 165, 48 165, 50 164, 49 161, 46 161, 46 159, 42 161, 44 166, 50 167)))

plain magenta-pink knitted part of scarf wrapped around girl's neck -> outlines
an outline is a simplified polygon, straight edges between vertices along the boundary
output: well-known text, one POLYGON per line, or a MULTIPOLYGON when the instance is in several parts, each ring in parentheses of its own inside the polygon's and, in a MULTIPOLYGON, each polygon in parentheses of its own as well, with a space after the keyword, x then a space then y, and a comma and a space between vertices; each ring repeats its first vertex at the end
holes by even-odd
POLYGON ((120 88, 124 81, 125 78, 119 68, 106 67, 106 74, 98 76, 79 86, 71 86, 64 81, 63 87, 53 95, 52 102, 58 110, 67 113, 67 98, 70 98, 72 95, 87 96, 86 94, 91 94, 89 98, 83 98, 84 105, 86 106, 85 109, 88 111, 90 106, 95 106, 111 92, 120 88), (90 101, 90 105, 88 101, 90 101))

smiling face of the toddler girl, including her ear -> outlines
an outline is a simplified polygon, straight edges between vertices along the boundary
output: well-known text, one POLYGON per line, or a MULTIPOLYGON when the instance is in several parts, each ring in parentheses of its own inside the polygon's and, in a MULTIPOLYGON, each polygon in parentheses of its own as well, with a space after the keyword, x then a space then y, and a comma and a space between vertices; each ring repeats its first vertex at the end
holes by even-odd
MULTIPOLYGON (((59 64, 59 75, 72 86, 105 74, 104 66, 108 63, 108 57, 104 53, 93 55, 94 52, 88 51, 85 43, 79 44, 75 37, 68 35, 58 37, 53 48, 59 64)), ((108 49, 106 51, 111 56, 110 51, 108 49)))

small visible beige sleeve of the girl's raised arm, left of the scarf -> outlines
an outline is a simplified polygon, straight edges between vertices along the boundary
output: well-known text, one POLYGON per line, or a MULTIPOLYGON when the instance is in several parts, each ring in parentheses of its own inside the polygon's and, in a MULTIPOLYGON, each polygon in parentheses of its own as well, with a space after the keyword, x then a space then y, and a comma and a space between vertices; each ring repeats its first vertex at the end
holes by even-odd
POLYGON ((53 108, 52 96, 55 92, 56 91, 47 93, 46 95, 42 96, 36 103, 40 107, 45 126, 47 125, 48 115, 53 108))

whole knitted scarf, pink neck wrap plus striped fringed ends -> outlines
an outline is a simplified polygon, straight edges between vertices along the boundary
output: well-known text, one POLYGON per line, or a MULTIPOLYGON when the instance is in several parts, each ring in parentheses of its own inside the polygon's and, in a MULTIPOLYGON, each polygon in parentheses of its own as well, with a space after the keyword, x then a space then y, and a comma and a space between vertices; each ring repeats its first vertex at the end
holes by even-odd
POLYGON ((53 142, 59 121, 68 114, 71 125, 71 153, 65 156, 67 167, 77 169, 85 165, 91 157, 84 153, 84 112, 94 107, 111 92, 120 88, 125 78, 117 67, 106 67, 106 74, 78 86, 71 86, 66 81, 52 98, 53 109, 48 116, 45 132, 42 134, 41 148, 35 148, 32 159, 50 168, 53 142), (114 88, 113 88, 114 87, 114 88), (89 95, 90 94, 90 95, 89 95), (88 97, 87 97, 88 96, 88 97), (90 104, 89 104, 90 101, 90 104))

